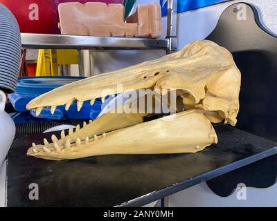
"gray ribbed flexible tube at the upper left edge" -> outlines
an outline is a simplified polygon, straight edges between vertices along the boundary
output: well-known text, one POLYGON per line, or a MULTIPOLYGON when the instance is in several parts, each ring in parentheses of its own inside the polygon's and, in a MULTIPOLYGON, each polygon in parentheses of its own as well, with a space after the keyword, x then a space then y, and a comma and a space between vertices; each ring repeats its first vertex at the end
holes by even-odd
POLYGON ((12 12, 0 3, 0 90, 15 92, 21 58, 20 30, 12 12))

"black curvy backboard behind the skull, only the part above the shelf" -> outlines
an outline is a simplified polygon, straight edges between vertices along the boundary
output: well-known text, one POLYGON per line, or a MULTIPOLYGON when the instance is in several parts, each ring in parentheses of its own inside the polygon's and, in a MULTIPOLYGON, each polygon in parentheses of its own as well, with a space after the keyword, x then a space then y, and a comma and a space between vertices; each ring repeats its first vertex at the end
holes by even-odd
POLYGON ((228 48, 242 73, 236 127, 277 141, 277 37, 262 26, 254 6, 235 3, 206 39, 228 48))

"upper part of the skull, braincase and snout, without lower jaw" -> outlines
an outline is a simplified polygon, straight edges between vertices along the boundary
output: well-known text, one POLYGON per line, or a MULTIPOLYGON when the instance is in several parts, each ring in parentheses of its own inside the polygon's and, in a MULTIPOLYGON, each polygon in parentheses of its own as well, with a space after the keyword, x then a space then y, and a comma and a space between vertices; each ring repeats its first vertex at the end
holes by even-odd
POLYGON ((212 41, 194 41, 179 52, 67 84, 36 97, 28 109, 84 102, 126 90, 177 89, 186 109, 202 108, 211 122, 235 125, 240 70, 231 53, 212 41), (118 84, 123 87, 118 88, 118 84), (109 90, 107 90, 107 88, 109 90), (110 93, 109 91, 113 91, 110 93))

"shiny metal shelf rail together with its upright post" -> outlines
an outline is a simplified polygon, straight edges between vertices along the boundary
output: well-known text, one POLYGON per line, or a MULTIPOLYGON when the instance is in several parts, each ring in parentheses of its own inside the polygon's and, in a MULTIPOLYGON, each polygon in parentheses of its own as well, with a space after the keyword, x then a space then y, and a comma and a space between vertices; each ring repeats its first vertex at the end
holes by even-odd
POLYGON ((138 37, 93 37, 78 35, 21 34, 22 48, 30 49, 94 49, 94 50, 176 50, 177 0, 168 0, 166 39, 138 37))

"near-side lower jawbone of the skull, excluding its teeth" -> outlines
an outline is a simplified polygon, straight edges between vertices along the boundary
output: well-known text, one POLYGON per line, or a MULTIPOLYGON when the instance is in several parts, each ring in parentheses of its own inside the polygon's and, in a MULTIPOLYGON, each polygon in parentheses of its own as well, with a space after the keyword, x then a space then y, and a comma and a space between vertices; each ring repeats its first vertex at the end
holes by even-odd
POLYGON ((217 135, 208 118, 202 111, 191 110, 112 131, 88 144, 78 140, 75 147, 62 151, 35 153, 32 147, 28 155, 64 160, 107 154, 195 153, 216 143, 217 135))

